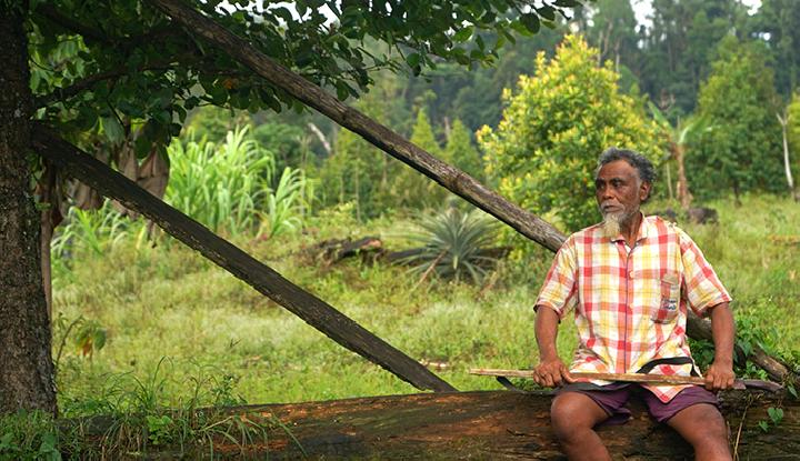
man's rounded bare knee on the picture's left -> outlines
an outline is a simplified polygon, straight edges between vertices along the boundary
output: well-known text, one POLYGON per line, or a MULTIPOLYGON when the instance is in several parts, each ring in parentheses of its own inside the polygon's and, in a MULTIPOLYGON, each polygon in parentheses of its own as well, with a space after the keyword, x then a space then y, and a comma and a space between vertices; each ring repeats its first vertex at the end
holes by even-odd
POLYGON ((592 429, 608 418, 591 398, 579 392, 564 392, 553 399, 550 407, 550 420, 560 440, 570 439, 573 434, 592 429))

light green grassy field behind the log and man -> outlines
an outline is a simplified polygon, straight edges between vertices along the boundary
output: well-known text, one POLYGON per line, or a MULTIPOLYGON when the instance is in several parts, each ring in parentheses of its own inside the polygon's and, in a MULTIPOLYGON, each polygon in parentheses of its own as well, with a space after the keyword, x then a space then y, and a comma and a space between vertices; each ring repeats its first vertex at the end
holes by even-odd
MULTIPOLYGON (((800 206, 773 197, 709 206, 719 223, 683 228, 733 295, 747 338, 800 361, 800 206)), ((490 289, 418 284, 404 268, 356 260, 323 268, 303 250, 344 234, 378 234, 400 249, 403 226, 359 224, 344 210, 324 213, 303 233, 234 240, 409 355, 439 363, 437 373, 460 390, 499 387, 469 368, 534 363, 531 304, 552 257, 544 250, 504 261, 490 289)), ((64 344, 57 377, 64 414, 126 399, 264 403, 416 391, 179 242, 161 238, 153 248, 130 235, 102 255, 76 251, 57 268, 53 348, 64 344), (76 340, 88 324, 104 330, 106 343, 84 355, 76 340)), ((564 359, 576 341, 568 323, 559 335, 564 359)))

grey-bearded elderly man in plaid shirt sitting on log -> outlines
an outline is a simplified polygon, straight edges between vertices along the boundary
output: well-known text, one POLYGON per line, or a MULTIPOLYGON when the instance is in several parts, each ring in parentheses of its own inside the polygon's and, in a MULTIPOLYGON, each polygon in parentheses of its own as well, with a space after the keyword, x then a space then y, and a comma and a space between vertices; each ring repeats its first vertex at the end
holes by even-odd
POLYGON ((650 196, 653 167, 641 154, 609 149, 594 179, 603 222, 573 233, 559 250, 536 303, 540 363, 536 381, 561 387, 552 427, 572 460, 608 460, 593 428, 624 422, 631 394, 678 431, 698 460, 730 460, 728 431, 710 390, 733 384, 734 325, 730 297, 682 230, 639 207, 650 196), (686 341, 687 308, 709 315, 714 361, 706 388, 576 382, 570 371, 697 374, 686 341), (558 323, 574 310, 580 343, 570 370, 556 350, 558 323))

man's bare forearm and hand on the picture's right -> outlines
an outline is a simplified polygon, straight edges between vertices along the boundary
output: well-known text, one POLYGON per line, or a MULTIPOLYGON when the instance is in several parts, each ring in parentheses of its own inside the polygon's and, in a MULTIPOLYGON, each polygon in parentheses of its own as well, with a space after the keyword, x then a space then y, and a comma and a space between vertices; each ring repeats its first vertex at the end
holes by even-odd
POLYGON ((714 361, 706 372, 706 389, 720 390, 733 387, 733 339, 736 325, 727 302, 719 303, 711 311, 711 335, 714 342, 714 361))

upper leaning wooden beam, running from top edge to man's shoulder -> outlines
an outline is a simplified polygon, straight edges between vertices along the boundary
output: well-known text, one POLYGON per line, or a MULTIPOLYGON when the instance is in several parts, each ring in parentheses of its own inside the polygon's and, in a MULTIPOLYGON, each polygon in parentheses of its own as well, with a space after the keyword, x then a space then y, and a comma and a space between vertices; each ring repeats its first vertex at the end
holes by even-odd
POLYGON ((247 40, 202 16, 182 0, 149 0, 186 27, 224 50, 268 82, 312 107, 379 149, 434 180, 452 193, 509 224, 529 239, 557 251, 564 235, 541 218, 503 199, 463 171, 437 159, 386 126, 340 102, 320 87, 280 66, 247 40))

